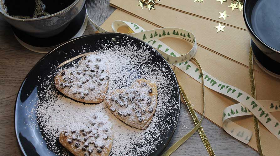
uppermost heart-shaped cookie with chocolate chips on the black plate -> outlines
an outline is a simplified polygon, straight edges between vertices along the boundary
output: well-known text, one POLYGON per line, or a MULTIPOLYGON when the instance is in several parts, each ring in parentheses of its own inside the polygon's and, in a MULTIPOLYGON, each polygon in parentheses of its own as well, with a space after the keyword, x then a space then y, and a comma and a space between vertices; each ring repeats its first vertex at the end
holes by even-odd
POLYGON ((64 95, 85 103, 100 103, 108 89, 108 70, 101 56, 84 56, 77 66, 60 71, 55 87, 64 95))

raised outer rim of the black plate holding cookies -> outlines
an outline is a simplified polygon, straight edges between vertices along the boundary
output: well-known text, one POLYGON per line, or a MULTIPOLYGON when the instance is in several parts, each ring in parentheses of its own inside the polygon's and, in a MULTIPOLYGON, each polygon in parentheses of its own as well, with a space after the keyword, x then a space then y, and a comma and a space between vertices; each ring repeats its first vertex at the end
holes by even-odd
MULTIPOLYGON (((57 48, 59 48, 60 46, 63 46, 64 44, 67 44, 67 43, 69 43, 69 42, 71 42, 71 41, 74 41, 74 40, 77 40, 77 39, 80 39, 80 38, 83 38, 83 37, 94 36, 94 35, 107 35, 107 34, 123 35, 123 36, 127 36, 127 37, 132 37, 132 38, 134 38, 135 40, 138 40, 138 41, 140 41, 140 42, 145 43, 144 41, 142 41, 142 40, 140 40, 140 39, 138 39, 138 38, 136 38, 136 37, 129 36, 129 35, 125 35, 125 34, 121 34, 121 33, 112 33, 112 32, 97 33, 97 34, 89 34, 89 35, 77 37, 77 38, 74 38, 74 39, 71 39, 71 40, 69 40, 69 41, 66 41, 66 42, 62 43, 61 45, 57 46, 56 48, 54 48, 53 50, 51 50, 50 52, 48 52, 45 56, 43 56, 43 57, 32 67, 32 69, 31 69, 31 70, 28 72, 28 74, 25 76, 24 80, 22 81, 22 83, 21 83, 21 85, 20 85, 20 87, 19 87, 19 90, 18 90, 18 93, 17 93, 17 96, 16 96, 15 105, 14 105, 14 112, 13 112, 14 132, 15 132, 15 136, 16 136, 16 139, 17 139, 18 146, 20 147, 20 151, 21 151, 21 153, 22 153, 24 156, 27 156, 27 155, 26 155, 26 153, 25 153, 25 151, 24 151, 24 149, 23 149, 21 143, 19 142, 19 135, 18 135, 18 132, 16 131, 16 127, 17 127, 17 125, 16 125, 16 108, 17 108, 17 101, 18 101, 18 96, 19 96, 20 90, 22 89, 23 84, 24 84, 25 80, 27 79, 27 77, 29 76, 29 74, 34 70, 35 66, 37 66, 43 59, 45 59, 46 56, 48 56, 51 52, 55 51, 55 50, 56 50, 57 48)), ((150 45, 149 45, 149 46, 150 46, 150 45)), ((176 120, 176 124, 175 124, 175 126, 174 126, 174 131, 173 131, 173 133, 172 133, 170 139, 168 139, 168 140, 167 140, 167 143, 166 143, 165 145, 163 145, 163 146, 165 146, 165 147, 162 149, 162 151, 161 151, 161 153, 162 153, 162 152, 164 151, 164 149, 166 149, 166 147, 167 147, 167 145, 169 144, 170 140, 173 138, 173 135, 174 135, 175 130, 176 130, 176 128, 177 128, 178 120, 179 120, 179 118, 180 118, 180 111, 181 111, 181 109, 180 109, 180 107, 181 107, 181 98, 180 98, 179 85, 178 85, 178 83, 177 83, 177 77, 176 77, 174 71, 172 70, 171 66, 170 66, 169 63, 166 61, 166 59, 165 59, 154 47, 152 47, 152 46, 150 46, 150 47, 151 47, 152 49, 154 49, 154 50, 164 59, 164 61, 167 63, 167 65, 170 67, 170 69, 171 69, 171 71, 172 71, 172 74, 173 74, 173 76, 174 76, 174 78, 175 78, 175 80, 176 80, 177 91, 178 91, 178 93, 179 93, 179 96, 178 96, 178 104, 179 104, 179 105, 178 105, 178 107, 179 107, 179 108, 178 108, 178 111, 179 111, 179 112, 178 112, 178 119, 176 120)))

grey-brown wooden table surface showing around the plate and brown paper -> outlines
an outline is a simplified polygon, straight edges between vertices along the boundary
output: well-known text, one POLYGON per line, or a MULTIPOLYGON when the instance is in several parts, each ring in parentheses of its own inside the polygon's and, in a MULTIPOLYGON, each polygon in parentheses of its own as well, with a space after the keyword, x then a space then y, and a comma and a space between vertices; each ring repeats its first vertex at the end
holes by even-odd
MULTIPOLYGON (((115 10, 109 7, 109 0, 87 0, 86 4, 89 16, 99 25, 115 10)), ((93 32, 95 32, 93 26, 88 23, 84 34, 93 32)), ((14 133, 15 99, 24 77, 45 54, 32 52, 21 46, 13 36, 9 24, 0 17, 0 55, 0 155, 21 155, 14 133)), ((216 155, 258 155, 255 150, 232 138, 208 119, 203 120, 202 126, 216 155)), ((194 123, 188 110, 181 105, 178 126, 167 148, 193 127, 194 123)), ((172 155, 208 154, 196 132, 172 155)))

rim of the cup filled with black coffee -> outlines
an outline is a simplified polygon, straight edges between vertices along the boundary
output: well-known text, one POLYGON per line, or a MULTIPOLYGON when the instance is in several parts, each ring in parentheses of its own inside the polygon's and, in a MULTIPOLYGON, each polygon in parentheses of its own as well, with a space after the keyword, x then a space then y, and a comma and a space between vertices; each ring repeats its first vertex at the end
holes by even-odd
MULTIPOLYGON (((66 7, 65 9, 59 11, 59 12, 56 12, 56 13, 53 13, 53 14, 50 14, 50 15, 47 15, 47 16, 44 16, 44 17, 38 17, 38 18, 16 18, 16 17, 12 17, 10 15, 8 15, 7 12, 3 12, 2 9, 0 9, 0 13, 3 14, 3 16, 11 19, 11 20, 14 20, 14 21, 21 21, 21 22, 31 22, 31 21, 39 21, 39 20, 43 20, 43 19, 47 19, 47 18, 50 18, 50 17, 53 17, 53 16, 56 16, 56 15, 59 15, 61 13, 64 13, 68 10, 70 10, 72 7, 74 7, 79 1, 84 1, 84 0, 75 0, 71 5, 69 5, 68 7, 66 7)), ((2 7, 2 2, 0 2, 0 7, 2 7)))

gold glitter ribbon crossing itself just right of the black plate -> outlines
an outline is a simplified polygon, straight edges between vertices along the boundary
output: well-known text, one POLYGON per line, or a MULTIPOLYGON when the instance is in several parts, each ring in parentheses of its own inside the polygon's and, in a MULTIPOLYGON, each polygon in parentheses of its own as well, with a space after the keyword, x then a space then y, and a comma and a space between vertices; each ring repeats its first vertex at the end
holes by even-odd
MULTIPOLYGON (((200 64, 198 63, 198 61, 197 61, 194 57, 193 57, 191 60, 193 60, 193 61, 198 65, 199 69, 202 71, 201 66, 200 66, 200 64)), ((174 64, 174 74, 175 74, 175 76, 176 76, 175 65, 176 65, 176 64, 174 64)), ((177 76, 176 76, 176 78, 177 78, 177 76)), ((202 117, 201 117, 200 121, 198 121, 198 117, 197 117, 197 115, 195 114, 194 109, 193 109, 193 107, 192 107, 190 101, 188 100, 188 97, 187 97, 185 91, 182 89, 182 86, 181 86, 180 82, 179 82, 178 80, 177 80, 177 82, 178 82, 178 85, 179 85, 179 89, 180 89, 180 91, 181 91, 181 93, 182 93, 182 95, 183 95, 183 99, 184 99, 184 101, 185 101, 185 105, 187 105, 188 110, 190 111, 190 113, 191 113, 191 115, 192 115, 192 118, 193 118, 193 121, 194 121, 194 123, 196 124, 196 126, 195 126, 188 134, 186 134, 185 136, 183 136, 179 141, 177 141, 177 142, 176 142, 175 144, 173 144, 169 149, 167 149, 166 152, 164 152, 161 156, 169 156, 170 154, 172 154, 172 153, 173 153, 177 148, 179 148, 186 140, 188 140, 188 138, 190 138, 190 137, 194 134, 194 132, 196 132, 197 130, 198 130, 198 133, 199 133, 199 135, 200 135, 200 137, 201 137, 201 139, 202 139, 202 141, 203 141, 203 144, 204 144, 204 146, 205 146, 205 148, 206 148, 208 154, 209 154, 210 156, 214 156, 215 153, 214 153, 214 151, 213 151, 213 149, 212 149, 212 147, 211 147, 211 145, 210 145, 210 143, 209 143, 209 140, 207 139, 206 134, 204 133, 204 130, 203 130, 202 126, 201 126, 201 123, 202 123, 202 120, 203 120, 203 117, 204 117, 204 111, 205 111, 204 79, 203 79, 203 81, 202 81, 202 85, 203 85, 203 92, 202 92, 202 96, 203 96, 203 114, 202 114, 202 117)))

